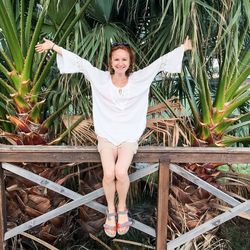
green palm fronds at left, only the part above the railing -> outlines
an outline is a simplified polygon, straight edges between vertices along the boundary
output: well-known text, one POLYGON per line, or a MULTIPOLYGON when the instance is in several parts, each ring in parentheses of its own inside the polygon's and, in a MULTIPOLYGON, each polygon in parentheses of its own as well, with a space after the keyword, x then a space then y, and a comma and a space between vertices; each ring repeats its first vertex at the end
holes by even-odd
MULTIPOLYGON (((25 4, 25 1, 0 2, 0 27, 3 36, 1 41, 3 49, 0 50, 3 60, 0 64, 0 72, 3 75, 0 79, 3 89, 0 97, 0 115, 4 120, 4 132, 1 133, 1 137, 14 144, 48 143, 46 133, 49 126, 71 102, 68 98, 60 109, 53 110, 53 114, 46 110, 48 109, 46 106, 48 93, 58 81, 55 78, 44 83, 50 73, 55 55, 45 55, 43 58, 39 58, 35 54, 34 47, 39 41, 49 2, 45 1, 42 8, 39 8, 34 0, 30 1, 29 5, 25 4), (16 7, 20 12, 15 11, 16 7), (34 17, 33 10, 37 16, 35 23, 33 19, 36 16, 34 17), (5 13, 8 14, 5 15, 5 13), (13 129, 17 133, 11 133, 13 129)), ((81 17, 89 2, 90 0, 81 6, 79 13, 74 18, 72 18, 72 13, 76 3, 71 6, 69 15, 64 18, 61 27, 55 34, 55 39, 59 40, 59 44, 65 42, 71 32, 71 27, 81 17), (65 28, 66 23, 69 23, 67 28, 65 28), (59 39, 62 30, 65 31, 59 39)))

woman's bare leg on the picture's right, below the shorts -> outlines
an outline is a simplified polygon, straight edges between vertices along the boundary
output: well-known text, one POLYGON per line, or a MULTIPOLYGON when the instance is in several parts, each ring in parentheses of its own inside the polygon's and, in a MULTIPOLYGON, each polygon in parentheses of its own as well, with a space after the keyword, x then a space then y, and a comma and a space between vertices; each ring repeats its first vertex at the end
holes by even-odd
MULTIPOLYGON (((117 211, 126 210, 126 198, 129 189, 128 168, 132 162, 134 152, 129 147, 118 148, 118 159, 115 165, 116 190, 118 193, 119 203, 117 211)), ((128 221, 128 215, 119 214, 118 223, 123 224, 128 221)), ((127 230, 126 228, 124 230, 127 230)))

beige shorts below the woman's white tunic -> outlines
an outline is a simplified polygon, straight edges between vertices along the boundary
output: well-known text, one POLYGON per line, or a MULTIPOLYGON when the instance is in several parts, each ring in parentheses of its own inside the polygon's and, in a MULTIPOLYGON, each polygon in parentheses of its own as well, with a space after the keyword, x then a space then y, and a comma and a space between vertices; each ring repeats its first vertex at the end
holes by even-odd
POLYGON ((125 147, 125 148, 129 148, 134 154, 136 154, 137 149, 138 149, 138 142, 122 142, 121 144, 116 146, 112 142, 110 142, 109 140, 103 137, 97 136, 97 139, 98 139, 97 149, 99 153, 101 153, 101 151, 104 148, 118 149, 118 148, 125 147))

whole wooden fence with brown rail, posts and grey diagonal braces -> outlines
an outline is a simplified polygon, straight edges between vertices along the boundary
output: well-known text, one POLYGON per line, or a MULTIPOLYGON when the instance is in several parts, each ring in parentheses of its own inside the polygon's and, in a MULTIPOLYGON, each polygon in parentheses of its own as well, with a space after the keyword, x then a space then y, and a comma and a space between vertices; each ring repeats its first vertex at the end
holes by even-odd
MULTIPOLYGON (((167 241, 167 215, 168 215, 168 189, 169 189, 169 165, 170 162, 175 163, 250 163, 250 148, 170 148, 170 147, 140 147, 138 150, 138 153, 135 155, 133 162, 148 162, 148 163, 155 163, 159 162, 160 160, 160 168, 159 168, 159 190, 158 190, 158 214, 157 214, 157 249, 162 250, 166 249, 166 241, 167 241)), ((100 156, 97 152, 96 147, 72 147, 72 146, 7 146, 7 145, 1 145, 0 146, 0 162, 100 162, 100 156)), ((7 168, 9 168, 7 166, 7 168)), ((171 166, 170 166, 171 168, 171 166)), ((154 169, 155 170, 155 169, 154 169)), ((152 172, 154 171, 152 169, 152 172)), ((172 168, 173 170, 173 168, 172 168)), ((0 230, 1 230, 1 236, 0 241, 2 240, 2 245, 0 247, 0 250, 5 249, 4 247, 4 239, 8 239, 11 237, 10 235, 14 233, 15 230, 18 229, 15 228, 10 230, 9 232, 6 232, 6 216, 5 213, 5 187, 3 183, 3 169, 1 168, 1 185, 0 185, 0 205, 1 205, 1 211, 0 211, 0 230), (3 238, 4 236, 4 238, 3 238), (2 237, 2 238, 1 238, 2 237)), ((146 170, 145 172, 147 172, 146 170)), ((150 170, 151 171, 151 170, 150 170)), ((21 171, 24 173, 24 171, 21 171)), ((197 183, 198 185, 201 185, 205 189, 210 189, 210 191, 214 194, 217 194, 217 196, 221 196, 221 192, 217 192, 217 190, 212 189, 207 184, 203 183, 203 181, 197 180, 196 177, 191 176, 190 174, 187 174, 183 171, 177 171, 178 174, 183 175, 183 177, 187 179, 192 179, 194 183, 197 183)), ((142 175, 144 175, 143 173, 142 175)), ((30 174, 28 174, 29 176, 30 174)), ((137 176, 131 176, 132 179, 140 178, 140 174, 138 173, 137 176)), ((38 180, 38 179, 37 179, 38 180)), ((39 180, 40 181, 40 180, 39 180)), ((46 184, 47 181, 44 183, 40 182, 41 185, 46 184)), ((46 186, 45 185, 45 186, 46 186)), ((49 183, 49 188, 57 189, 57 187, 52 185, 52 183, 49 183), (53 188, 52 188, 53 187, 53 188)), ((60 189, 59 189, 60 190, 60 189)), ((59 193, 63 193, 62 190, 59 191, 59 193)), ((65 190, 64 190, 65 191, 65 190)), ((209 190, 208 190, 209 191, 209 190)), ((66 194, 64 194, 67 196, 66 194)), ((85 203, 85 205, 96 207, 97 204, 91 200, 93 197, 88 197, 90 194, 86 195, 86 197, 80 197, 79 194, 74 194, 74 198, 70 196, 73 201, 70 202, 68 207, 64 207, 62 210, 65 212, 66 210, 71 210, 77 206, 80 206, 85 203), (75 197, 78 196, 78 197, 75 197), (89 199, 88 199, 89 198, 89 199), (84 202, 82 202, 82 199, 84 199, 84 202), (87 199, 87 200, 85 200, 87 199), (86 203, 87 202, 87 203, 86 203)), ((93 195, 93 194, 92 194, 93 195)), ((100 194, 99 194, 100 195, 100 194)), ((98 196, 98 195, 97 195, 98 196)), ((232 200, 230 197, 225 197, 225 195, 222 195, 228 203, 236 205, 235 201, 232 200)), ((211 229, 211 227, 217 226, 218 223, 221 221, 225 221, 226 219, 233 218, 237 214, 239 214, 242 211, 247 211, 249 209, 249 201, 247 203, 244 203, 244 206, 242 204, 236 205, 235 208, 231 209, 230 211, 233 212, 230 214, 225 214, 222 217, 216 217, 215 220, 211 220, 210 223, 205 223, 204 226, 199 226, 196 228, 196 231, 190 231, 190 233, 187 233, 185 235, 180 236, 174 241, 171 241, 167 244, 169 249, 173 249, 172 247, 174 244, 178 243, 178 246, 180 244, 183 244, 181 242, 186 242, 188 240, 191 240, 192 238, 196 237, 200 234, 200 232, 206 232, 211 229), (246 207, 247 206, 247 207, 246 207), (238 209, 238 210, 237 210, 238 209), (237 211, 236 211, 237 210, 237 211), (201 230, 201 231, 200 231, 201 230)), ((100 208, 101 210, 104 210, 103 207, 100 208)), ((56 212, 58 211, 51 211, 53 214, 48 213, 50 216, 56 216, 56 212)), ((62 212, 62 211, 61 211, 62 212)), ((47 218, 49 219, 49 218, 47 218)), ((39 218, 35 219, 36 223, 38 223, 39 218)), ((29 223, 33 222, 31 220, 29 223)), ((40 220, 41 222, 41 220, 40 220)), ((31 223, 32 224, 32 223, 31 223)), ((33 227, 33 224, 29 224, 28 228, 33 227)), ((24 225, 21 225, 24 226, 24 225)), ((141 227, 142 225, 138 224, 138 227, 141 227)), ((20 227, 20 226, 19 226, 20 227)), ((154 234, 154 230, 149 228, 148 232, 150 232, 150 235, 154 234)), ((1 243, 1 242, 0 242, 1 243)))

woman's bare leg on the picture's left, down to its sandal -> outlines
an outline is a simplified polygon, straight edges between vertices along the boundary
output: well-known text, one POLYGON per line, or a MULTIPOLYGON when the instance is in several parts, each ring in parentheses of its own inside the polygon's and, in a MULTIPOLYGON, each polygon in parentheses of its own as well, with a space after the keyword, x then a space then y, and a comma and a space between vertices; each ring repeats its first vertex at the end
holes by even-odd
MULTIPOLYGON (((100 152, 103 167, 103 189, 108 203, 108 213, 115 213, 115 161, 117 158, 117 149, 104 148, 100 152)), ((107 217, 105 224, 116 225, 114 216, 107 217)), ((113 234, 112 229, 106 229, 108 233, 113 234)))

